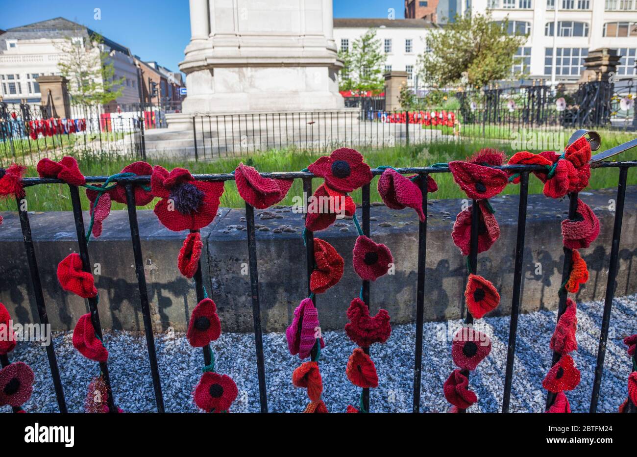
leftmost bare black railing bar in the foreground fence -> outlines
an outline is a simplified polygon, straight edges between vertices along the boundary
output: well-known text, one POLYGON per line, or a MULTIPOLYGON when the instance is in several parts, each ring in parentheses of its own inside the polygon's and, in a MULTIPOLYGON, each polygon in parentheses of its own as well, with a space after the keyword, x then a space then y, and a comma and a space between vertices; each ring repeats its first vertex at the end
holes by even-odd
MULTIPOLYGON (((29 223, 29 214, 27 210, 22 210, 22 201, 26 205, 26 197, 16 197, 18 205, 18 216, 20 217, 20 226, 22 228, 22 238, 24 238, 24 250, 27 254, 27 261, 29 263, 29 272, 31 273, 31 286, 33 286, 33 294, 36 300, 36 307, 38 308, 39 321, 45 327, 48 328, 48 314, 47 307, 44 303, 44 295, 42 293, 42 283, 39 277, 38 259, 36 258, 35 247, 33 245, 33 238, 31 235, 31 224, 29 223)), ((68 412, 66 408, 66 399, 64 398, 64 389, 62 388, 62 380, 60 379, 60 369, 57 366, 57 359, 55 357, 55 346, 53 340, 47 345, 47 358, 48 365, 51 368, 51 377, 53 378, 53 386, 55 389, 55 397, 57 398, 57 405, 60 412, 68 412)))

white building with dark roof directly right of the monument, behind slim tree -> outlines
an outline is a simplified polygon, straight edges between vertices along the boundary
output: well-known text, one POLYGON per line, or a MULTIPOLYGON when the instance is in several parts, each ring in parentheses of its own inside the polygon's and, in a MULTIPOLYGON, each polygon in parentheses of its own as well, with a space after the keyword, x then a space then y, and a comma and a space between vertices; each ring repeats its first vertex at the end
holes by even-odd
POLYGON ((417 78, 419 55, 426 48, 426 36, 438 25, 424 19, 334 18, 334 41, 340 50, 352 50, 352 44, 368 29, 376 31, 385 52, 384 71, 406 71, 408 85, 422 87, 417 78))

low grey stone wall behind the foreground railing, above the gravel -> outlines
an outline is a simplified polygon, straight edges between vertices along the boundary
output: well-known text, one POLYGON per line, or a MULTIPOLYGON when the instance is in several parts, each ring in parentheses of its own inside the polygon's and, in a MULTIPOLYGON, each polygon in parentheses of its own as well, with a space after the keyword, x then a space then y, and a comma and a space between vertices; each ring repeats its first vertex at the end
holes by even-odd
MULTIPOLYGON (((610 256, 614 213, 608 210, 615 189, 583 192, 582 199, 601 221, 601 234, 589 249, 580 252, 590 270, 589 282, 577 300, 603 299, 610 256)), ((491 200, 496 208, 501 237, 478 256, 478 273, 491 280, 501 294, 501 304, 493 315, 510 311, 513 286, 513 259, 517 227, 516 196, 491 200)), ((434 200, 428 208, 426 303, 427 320, 454 319, 463 312, 466 263, 450 236, 455 215, 461 210, 458 199, 434 200)), ((637 291, 637 186, 629 187, 616 294, 637 291)), ((563 261, 560 222, 566 217, 568 201, 554 201, 542 195, 529 197, 522 311, 552 309, 557 305, 563 261), (536 274, 538 265, 541 274, 536 274)), ((359 210, 360 211, 360 210, 359 210)), ((257 211, 257 253, 262 323, 265 331, 281 331, 290 323, 292 312, 306 296, 305 254, 301 231, 303 219, 289 208, 257 211), (289 228, 285 228, 285 226, 289 228), (282 230, 282 228, 285 228, 282 230)), ((247 274, 248 250, 243 210, 220 210, 213 224, 203 230, 204 279, 208 293, 217 303, 225 331, 252 331, 252 304, 247 274), (243 271, 242 271, 243 270, 243 271)), ((17 215, 3 214, 0 228, 0 301, 20 323, 37 316, 17 215)), ((396 263, 396 273, 371 285, 371 307, 389 310, 392 323, 408 323, 415 317, 417 219, 413 210, 371 208, 372 238, 385 243, 396 263)), ((85 214, 85 220, 88 215, 85 214)), ((360 217, 360 215, 359 215, 360 217)), ((70 330, 87 312, 85 301, 62 291, 57 283, 57 263, 77 249, 73 217, 68 212, 48 212, 30 216, 40 274, 45 288, 48 316, 54 330, 70 330)), ((172 233, 150 211, 139 212, 142 249, 146 262, 148 293, 155 330, 185 330, 196 305, 194 284, 176 268, 185 233, 172 233)), ((142 316, 137 292, 130 231, 125 212, 113 212, 104 223, 104 233, 89 245, 92 263, 101 264, 96 285, 104 328, 141 330, 142 316)), ((343 279, 317 298, 324 330, 343 328, 345 312, 358 295, 361 281, 352 268, 356 231, 351 220, 341 221, 316 234, 332 243, 345 259, 343 279), (347 225, 343 225, 347 224, 347 225), (345 230, 347 229, 347 230, 345 230)), ((37 319, 37 317, 36 317, 37 319)))

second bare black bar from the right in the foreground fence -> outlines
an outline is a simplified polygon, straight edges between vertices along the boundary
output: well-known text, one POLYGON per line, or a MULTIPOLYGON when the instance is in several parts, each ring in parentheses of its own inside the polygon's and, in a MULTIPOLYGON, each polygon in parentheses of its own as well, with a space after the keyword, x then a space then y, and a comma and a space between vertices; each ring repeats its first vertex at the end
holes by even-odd
POLYGON ((513 297, 511 299, 511 320, 509 340, 506 352, 505 391, 502 400, 502 412, 509 412, 513 363, 515 361, 515 339, 517 337, 518 315, 520 312, 520 292, 522 290, 522 261, 524 260, 524 235, 526 234, 527 197, 529 195, 529 172, 520 174, 520 201, 517 220, 517 240, 515 242, 515 266, 513 270, 513 297))

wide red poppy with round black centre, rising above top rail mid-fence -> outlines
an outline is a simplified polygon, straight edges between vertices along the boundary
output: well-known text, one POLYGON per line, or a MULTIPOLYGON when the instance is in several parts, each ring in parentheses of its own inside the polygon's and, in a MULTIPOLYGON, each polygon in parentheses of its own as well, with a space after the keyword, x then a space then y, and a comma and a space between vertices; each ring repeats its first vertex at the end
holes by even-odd
POLYGON ((352 192, 369 184, 373 178, 361 153, 349 148, 336 149, 329 156, 319 157, 308 166, 308 170, 324 178, 329 187, 341 192, 352 192))

